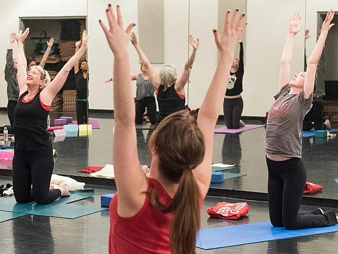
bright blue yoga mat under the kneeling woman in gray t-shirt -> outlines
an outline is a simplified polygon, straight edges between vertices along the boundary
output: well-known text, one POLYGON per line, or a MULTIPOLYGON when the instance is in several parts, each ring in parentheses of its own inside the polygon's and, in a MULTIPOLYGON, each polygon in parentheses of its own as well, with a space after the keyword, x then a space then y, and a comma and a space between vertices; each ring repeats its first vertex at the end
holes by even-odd
POLYGON ((196 247, 203 250, 260 243, 312 234, 337 232, 338 224, 331 227, 303 230, 276 228, 269 221, 238 226, 200 230, 196 247))

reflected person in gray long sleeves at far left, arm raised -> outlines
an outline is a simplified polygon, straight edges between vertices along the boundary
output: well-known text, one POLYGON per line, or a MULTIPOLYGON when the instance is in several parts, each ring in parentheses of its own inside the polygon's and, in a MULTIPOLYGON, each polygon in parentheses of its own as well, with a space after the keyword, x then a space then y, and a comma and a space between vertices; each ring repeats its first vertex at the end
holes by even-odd
POLYGON ((5 80, 7 81, 7 114, 9 122, 13 128, 14 123, 14 111, 18 103, 19 98, 19 84, 17 78, 18 72, 18 59, 13 59, 13 44, 15 42, 16 33, 9 35, 9 48, 6 54, 6 66, 5 66, 5 80))

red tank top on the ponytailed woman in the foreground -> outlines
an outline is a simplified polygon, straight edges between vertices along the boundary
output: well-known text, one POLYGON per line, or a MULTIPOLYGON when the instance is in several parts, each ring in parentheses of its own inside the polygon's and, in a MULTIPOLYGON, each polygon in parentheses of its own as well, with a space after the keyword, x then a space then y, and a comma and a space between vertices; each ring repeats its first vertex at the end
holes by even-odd
MULTIPOLYGON (((162 204, 169 206, 172 198, 163 186, 153 178, 148 178, 148 182, 148 192, 155 188, 162 204)), ((203 196, 200 195, 200 209, 202 207, 203 196)), ((148 195, 137 214, 123 218, 117 214, 116 193, 110 202, 109 214, 109 254, 171 254, 169 231, 173 213, 156 210, 148 195)))

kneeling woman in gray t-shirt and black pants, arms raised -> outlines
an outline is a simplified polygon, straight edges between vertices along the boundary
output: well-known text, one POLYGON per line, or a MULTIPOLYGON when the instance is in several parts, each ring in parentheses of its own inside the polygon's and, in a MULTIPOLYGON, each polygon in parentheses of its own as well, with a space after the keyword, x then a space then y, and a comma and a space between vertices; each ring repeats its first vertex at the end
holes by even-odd
POLYGON ((306 169, 301 160, 302 122, 312 105, 317 64, 327 33, 333 24, 332 10, 327 13, 321 34, 308 60, 306 72, 289 81, 295 35, 301 30, 299 14, 290 20, 279 74, 279 92, 271 107, 266 129, 266 161, 269 172, 268 199, 270 220, 275 227, 297 230, 337 224, 336 213, 320 208, 298 214, 305 183, 306 169))

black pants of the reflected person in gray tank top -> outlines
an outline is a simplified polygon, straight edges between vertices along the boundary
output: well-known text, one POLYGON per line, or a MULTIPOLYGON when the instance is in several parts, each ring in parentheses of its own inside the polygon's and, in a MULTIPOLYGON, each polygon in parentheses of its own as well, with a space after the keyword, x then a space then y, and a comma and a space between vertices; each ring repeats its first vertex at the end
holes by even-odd
POLYGON ((155 97, 146 97, 142 100, 136 100, 136 115, 135 123, 143 123, 143 114, 145 113, 146 107, 148 112, 148 117, 151 124, 156 122, 156 101, 155 97))

